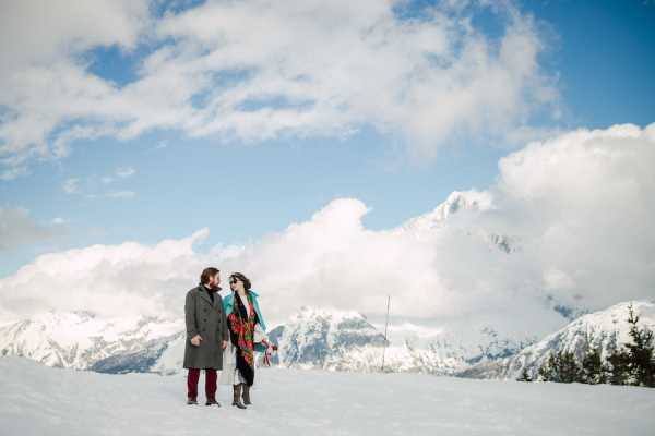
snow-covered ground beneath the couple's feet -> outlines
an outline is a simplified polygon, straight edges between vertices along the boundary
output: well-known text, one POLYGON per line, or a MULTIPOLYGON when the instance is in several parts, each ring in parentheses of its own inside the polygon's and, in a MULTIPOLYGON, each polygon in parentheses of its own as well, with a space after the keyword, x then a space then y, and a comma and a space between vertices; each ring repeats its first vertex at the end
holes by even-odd
MULTIPOLYGON (((254 405, 184 403, 181 375, 109 375, 0 358, 0 434, 653 435, 655 390, 420 374, 265 368, 254 405)), ((203 378, 200 390, 202 391, 203 378)), ((202 395, 201 395, 202 397, 202 395)))

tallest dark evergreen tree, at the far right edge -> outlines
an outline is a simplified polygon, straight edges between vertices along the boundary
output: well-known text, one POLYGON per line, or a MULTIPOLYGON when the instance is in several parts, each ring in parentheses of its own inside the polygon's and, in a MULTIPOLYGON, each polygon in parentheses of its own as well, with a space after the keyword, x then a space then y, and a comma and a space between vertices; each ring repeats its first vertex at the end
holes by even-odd
POLYGON ((634 314, 632 304, 628 306, 628 323, 632 343, 626 343, 628 349, 629 370, 632 383, 636 386, 655 387, 655 361, 653 355, 653 331, 639 328, 639 315, 634 314))

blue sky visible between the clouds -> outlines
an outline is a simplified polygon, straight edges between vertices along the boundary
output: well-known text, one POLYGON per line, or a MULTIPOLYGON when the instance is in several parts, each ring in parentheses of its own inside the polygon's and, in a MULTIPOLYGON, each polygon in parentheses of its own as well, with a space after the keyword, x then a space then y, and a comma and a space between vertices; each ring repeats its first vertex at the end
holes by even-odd
MULTIPOLYGON (((430 4, 410 3, 403 13, 406 20, 421 16, 430 4)), ((562 131, 654 121, 654 4, 531 1, 516 8, 535 20, 544 45, 539 75, 558 93, 556 102, 531 112, 527 124, 562 131)), ((490 40, 502 34, 504 19, 486 10, 473 15, 474 26, 490 40)), ((87 60, 88 74, 121 88, 138 81, 141 62, 167 44, 144 37, 126 50, 90 43, 76 59, 87 60)), ((344 137, 340 128, 247 141, 226 140, 221 132, 192 137, 175 126, 129 138, 109 134, 73 141, 68 155, 32 160, 23 175, 0 181, 0 206, 28 209, 39 226, 63 220, 49 239, 1 251, 0 276, 45 252, 128 240, 152 244, 204 227, 211 229, 205 247, 259 240, 307 220, 337 197, 369 206, 368 228, 390 228, 431 210, 452 191, 486 189, 496 180, 499 158, 525 145, 498 132, 464 130, 434 140, 436 153, 416 158, 407 152, 413 137, 374 124, 356 121, 346 126, 355 133, 344 137), (133 174, 116 175, 121 168, 133 174), (63 187, 71 179, 78 180, 76 193, 63 187)), ((66 129, 60 124, 48 137, 55 141, 66 129)))

